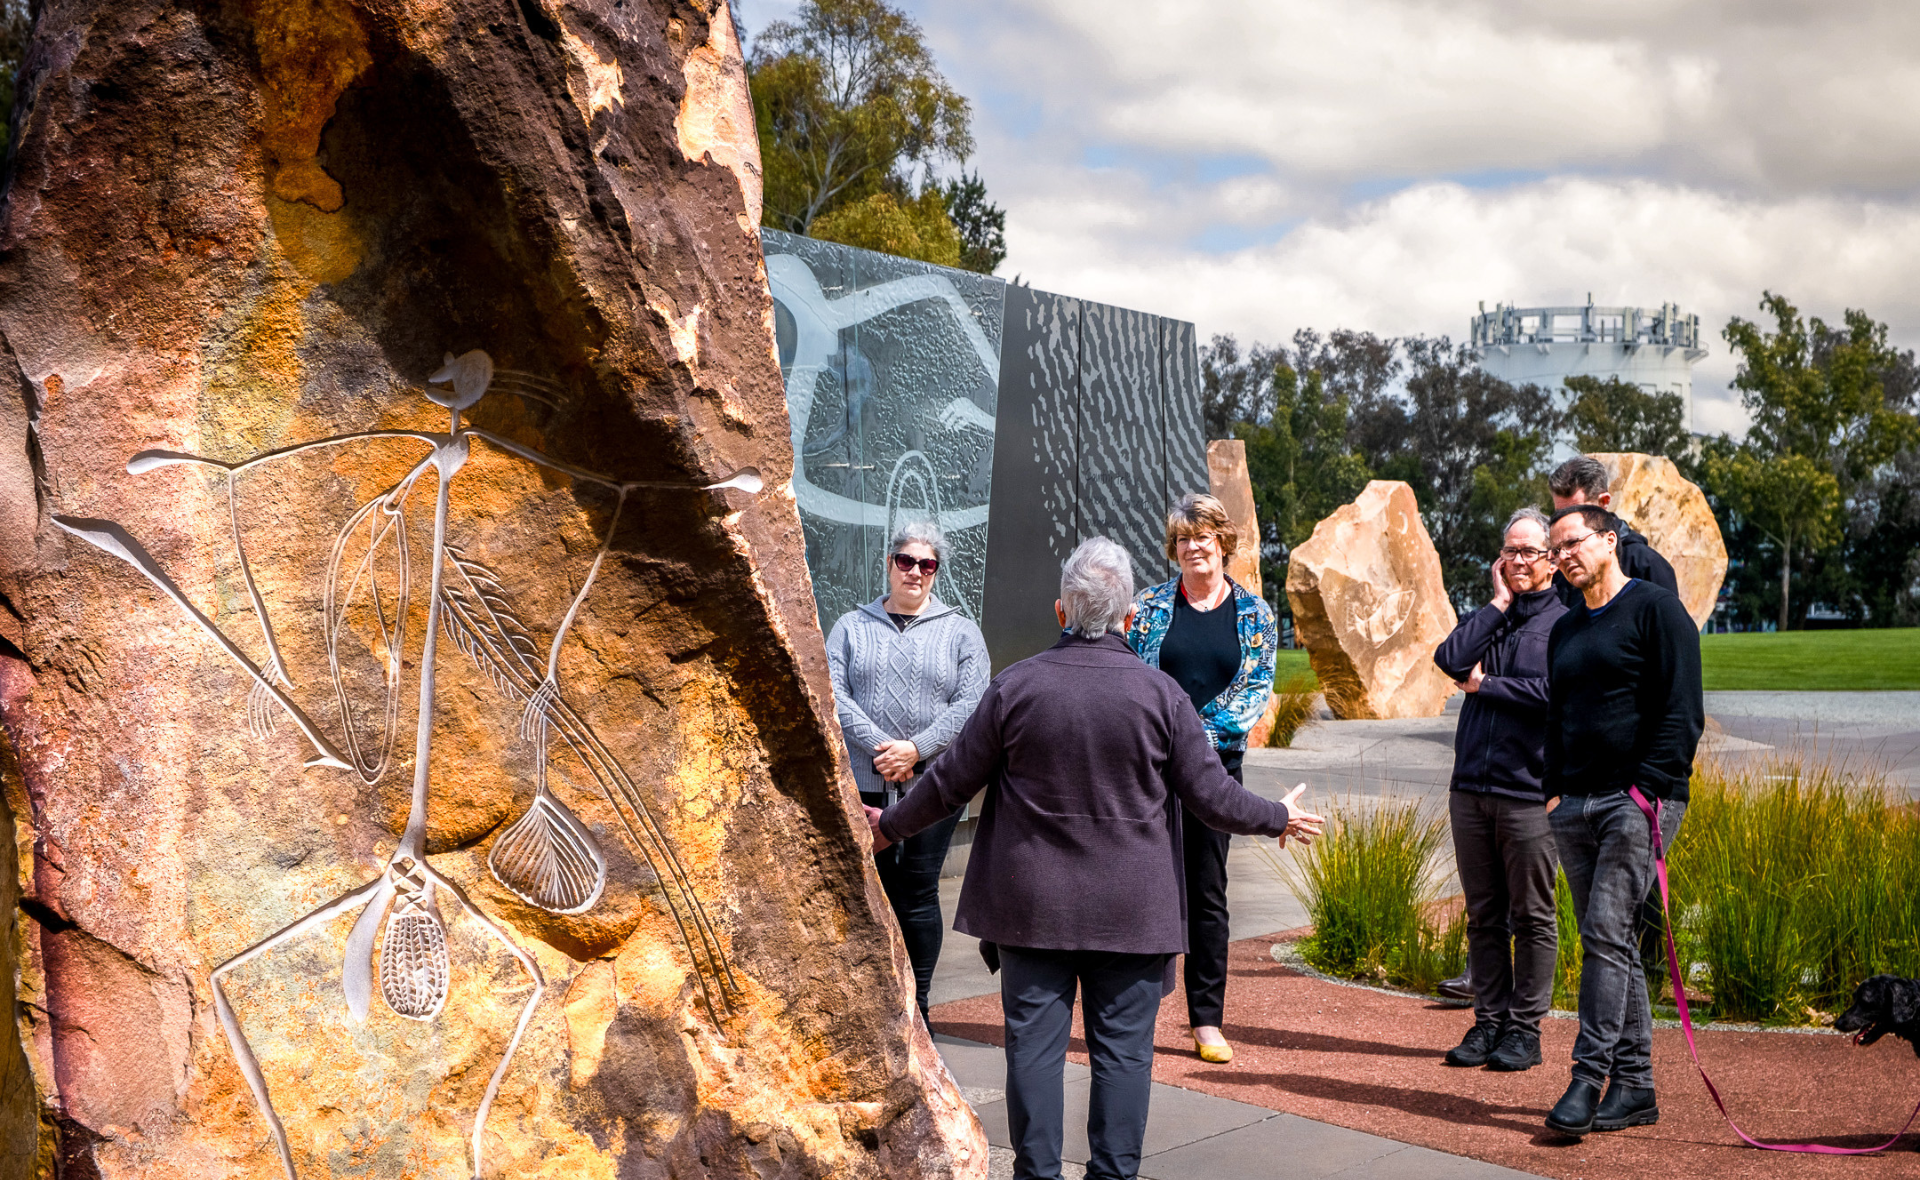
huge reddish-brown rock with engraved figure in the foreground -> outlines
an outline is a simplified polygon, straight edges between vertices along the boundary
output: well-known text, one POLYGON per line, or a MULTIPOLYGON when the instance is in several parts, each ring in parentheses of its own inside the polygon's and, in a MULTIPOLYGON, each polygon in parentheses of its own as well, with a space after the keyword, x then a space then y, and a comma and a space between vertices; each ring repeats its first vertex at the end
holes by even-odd
POLYGON ((48 0, 21 84, 0 1174, 985 1176, 841 764, 724 4, 48 0))

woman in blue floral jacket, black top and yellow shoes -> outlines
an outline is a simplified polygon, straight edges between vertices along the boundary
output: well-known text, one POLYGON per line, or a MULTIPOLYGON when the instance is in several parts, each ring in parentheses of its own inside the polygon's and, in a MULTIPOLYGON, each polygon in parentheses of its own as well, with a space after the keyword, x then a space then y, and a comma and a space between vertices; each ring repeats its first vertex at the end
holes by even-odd
MULTIPOLYGON (((1188 493, 1167 514, 1173 581, 1140 591, 1127 643, 1171 675, 1200 712, 1221 766, 1244 783, 1246 735, 1273 695, 1279 629, 1258 595, 1227 578, 1240 533, 1212 495, 1188 493)), ((1227 1003, 1227 846, 1231 837, 1181 815, 1187 850, 1187 1023, 1202 1061, 1231 1061, 1227 1003)))

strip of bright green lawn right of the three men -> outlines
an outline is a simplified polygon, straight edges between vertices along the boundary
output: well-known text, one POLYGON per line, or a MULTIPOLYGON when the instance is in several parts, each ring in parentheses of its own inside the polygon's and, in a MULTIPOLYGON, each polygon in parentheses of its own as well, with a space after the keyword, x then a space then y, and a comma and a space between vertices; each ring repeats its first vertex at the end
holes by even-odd
POLYGON ((1715 689, 1920 689, 1920 627, 1701 635, 1715 689))

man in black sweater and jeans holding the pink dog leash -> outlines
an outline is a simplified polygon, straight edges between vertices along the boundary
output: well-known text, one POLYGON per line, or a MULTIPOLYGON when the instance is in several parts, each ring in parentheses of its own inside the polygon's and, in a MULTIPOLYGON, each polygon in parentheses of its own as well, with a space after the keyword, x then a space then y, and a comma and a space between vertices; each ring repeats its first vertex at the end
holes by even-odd
POLYGON ((1653 837, 1626 791, 1661 800, 1661 831, 1672 840, 1686 817, 1705 706, 1699 629, 1680 599, 1620 570, 1619 518, 1594 505, 1563 508, 1548 541, 1580 591, 1548 637, 1546 792, 1586 952, 1572 1084, 1548 1128, 1584 1136, 1661 1117, 1653 1009, 1636 946, 1653 837))

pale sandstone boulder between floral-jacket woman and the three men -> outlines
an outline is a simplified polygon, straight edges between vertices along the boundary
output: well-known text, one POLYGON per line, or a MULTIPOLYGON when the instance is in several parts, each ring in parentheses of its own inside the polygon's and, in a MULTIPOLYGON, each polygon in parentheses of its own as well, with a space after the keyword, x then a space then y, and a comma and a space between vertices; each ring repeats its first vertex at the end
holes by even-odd
POLYGON ((1413 489, 1375 480, 1288 556, 1294 633, 1332 716, 1432 718, 1457 689, 1434 649, 1457 622, 1413 489))

